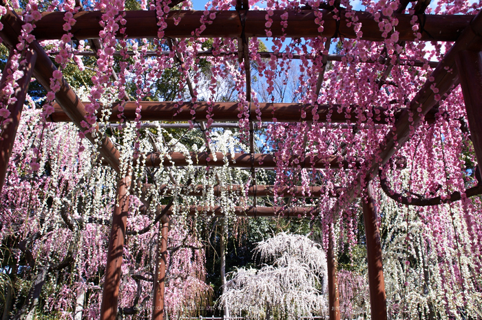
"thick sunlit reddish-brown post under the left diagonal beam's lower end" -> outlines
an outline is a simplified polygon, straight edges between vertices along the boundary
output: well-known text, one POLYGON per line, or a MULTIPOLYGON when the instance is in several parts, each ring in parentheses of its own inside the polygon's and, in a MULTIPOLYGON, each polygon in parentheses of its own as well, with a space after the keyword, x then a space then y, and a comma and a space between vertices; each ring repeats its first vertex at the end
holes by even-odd
POLYGON ((105 266, 105 281, 102 293, 101 320, 116 320, 119 284, 121 283, 122 255, 124 250, 125 226, 129 212, 129 186, 131 176, 118 181, 117 203, 112 215, 109 251, 105 266))

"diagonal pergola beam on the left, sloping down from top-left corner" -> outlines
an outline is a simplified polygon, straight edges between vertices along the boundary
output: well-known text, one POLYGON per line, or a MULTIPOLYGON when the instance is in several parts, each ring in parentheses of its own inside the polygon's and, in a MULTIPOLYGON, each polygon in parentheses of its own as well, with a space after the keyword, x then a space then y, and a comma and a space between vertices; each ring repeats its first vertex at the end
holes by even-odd
MULTIPOLYGON (((1 23, 3 23, 3 29, 0 30, 0 37, 8 47, 15 47, 19 42, 18 37, 21 34, 23 22, 17 14, 7 9, 7 13, 1 17, 1 23)), ((50 91, 50 78, 53 78, 53 73, 57 68, 37 41, 32 41, 32 43, 29 44, 29 48, 36 52, 37 55, 33 75, 45 90, 50 91)), ((61 79, 61 89, 55 93, 55 100, 57 105, 63 110, 63 113, 70 118, 70 121, 74 122, 76 126, 84 132, 85 128, 81 126, 81 122, 85 119, 85 106, 70 88, 65 78, 61 79)), ((98 126, 96 130, 98 130, 98 126)), ((94 146, 98 145, 90 133, 85 134, 85 137, 87 137, 94 146)), ((118 172, 118 150, 114 144, 112 144, 109 137, 103 136, 100 140, 101 143, 98 146, 98 151, 105 161, 118 172)))

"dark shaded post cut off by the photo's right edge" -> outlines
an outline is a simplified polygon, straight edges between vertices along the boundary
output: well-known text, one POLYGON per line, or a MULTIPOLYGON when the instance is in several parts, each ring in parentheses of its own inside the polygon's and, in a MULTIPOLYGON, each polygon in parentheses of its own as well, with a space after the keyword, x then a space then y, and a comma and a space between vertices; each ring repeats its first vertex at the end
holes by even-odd
POLYGON ((470 137, 482 172, 482 52, 463 50, 455 59, 459 69, 470 137))

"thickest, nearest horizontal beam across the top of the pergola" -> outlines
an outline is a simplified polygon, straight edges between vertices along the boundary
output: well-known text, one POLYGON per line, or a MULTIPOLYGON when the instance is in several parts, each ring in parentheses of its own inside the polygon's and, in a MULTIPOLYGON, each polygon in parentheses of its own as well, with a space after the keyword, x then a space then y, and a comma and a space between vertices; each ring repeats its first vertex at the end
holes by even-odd
MULTIPOLYGON (((368 12, 354 12, 353 17, 346 18, 345 11, 337 13, 339 20, 329 10, 322 10, 323 32, 318 32, 319 25, 315 23, 315 12, 313 10, 300 10, 299 12, 288 11, 288 25, 282 30, 282 15, 284 10, 274 10, 271 25, 271 36, 288 38, 316 37, 327 38, 356 38, 354 30, 357 19, 362 23, 362 40, 384 41, 380 31, 378 20, 368 12)), ((40 21, 37 21, 36 28, 32 32, 37 40, 60 39, 65 32, 63 24, 65 12, 44 12, 40 21)), ((99 32, 103 27, 99 25, 102 21, 103 12, 83 11, 74 14, 76 20, 72 26, 72 34, 78 40, 88 38, 99 38, 99 32)), ((123 14, 123 12, 120 12, 123 14)), ((381 14, 381 12, 380 12, 381 14)), ((165 36, 171 38, 191 38, 191 36, 202 36, 203 38, 238 38, 243 32, 240 16, 236 11, 217 11, 216 19, 206 24, 206 29, 200 34, 194 34, 200 27, 200 19, 204 17, 204 11, 176 10, 169 12, 164 31, 165 36), (180 19, 176 25, 174 19, 180 19), (211 23, 212 22, 212 23, 211 23)), ((381 16, 384 16, 381 14, 381 16)), ((399 21, 395 30, 399 32, 400 41, 414 41, 417 39, 412 30, 412 15, 393 14, 399 21)), ((155 11, 127 11, 125 34, 128 38, 156 38, 158 36, 158 19, 155 11)), ((423 22, 421 30, 421 41, 456 41, 463 29, 468 25, 473 16, 469 15, 443 15, 426 14, 420 15, 419 21, 423 22)), ((244 35, 246 37, 266 37, 266 11, 250 10, 246 14, 244 35)), ((120 33, 116 34, 122 37, 120 33)))

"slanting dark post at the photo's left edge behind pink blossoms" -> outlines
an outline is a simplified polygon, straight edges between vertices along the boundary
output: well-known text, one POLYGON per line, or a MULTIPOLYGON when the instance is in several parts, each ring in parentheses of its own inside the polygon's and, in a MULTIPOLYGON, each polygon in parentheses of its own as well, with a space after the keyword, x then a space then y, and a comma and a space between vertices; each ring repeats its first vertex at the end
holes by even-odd
MULTIPOLYGON (((12 54, 8 58, 5 70, 1 77, 0 88, 5 87, 9 76, 8 70, 12 64, 12 54)), ((25 95, 27 95, 28 85, 30 84, 30 78, 32 78, 32 70, 34 69, 36 61, 36 52, 32 49, 27 49, 25 53, 25 59, 19 65, 19 71, 23 72, 23 77, 17 81, 19 87, 14 89, 13 97, 17 98, 17 101, 13 102, 8 106, 8 111, 10 115, 6 121, 1 126, 1 139, 0 139, 0 192, 3 188, 3 183, 5 182, 5 176, 7 174, 8 161, 12 155, 12 148, 15 141, 15 136, 17 135, 17 129, 19 128, 20 116, 23 109, 23 104, 25 103, 25 95)), ((2 95, 2 99, 5 98, 2 95)))

